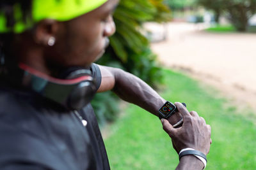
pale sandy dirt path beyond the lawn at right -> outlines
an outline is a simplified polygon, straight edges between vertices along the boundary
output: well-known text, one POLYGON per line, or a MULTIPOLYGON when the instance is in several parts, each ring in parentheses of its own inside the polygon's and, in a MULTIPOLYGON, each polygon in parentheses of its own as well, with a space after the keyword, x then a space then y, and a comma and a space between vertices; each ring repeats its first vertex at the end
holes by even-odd
POLYGON ((168 39, 152 43, 152 49, 165 66, 186 71, 256 110, 256 34, 209 33, 202 27, 170 23, 168 39))

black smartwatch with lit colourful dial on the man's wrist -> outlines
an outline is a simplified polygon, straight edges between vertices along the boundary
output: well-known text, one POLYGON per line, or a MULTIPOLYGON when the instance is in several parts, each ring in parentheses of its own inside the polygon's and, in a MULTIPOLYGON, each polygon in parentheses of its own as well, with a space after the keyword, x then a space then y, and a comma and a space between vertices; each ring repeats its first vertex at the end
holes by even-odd
MULTIPOLYGON (((182 103, 185 107, 186 104, 182 103)), ((159 109, 158 113, 159 113, 159 118, 169 118, 170 116, 173 115, 173 113, 175 113, 175 111, 177 110, 175 104, 173 104, 170 101, 166 101, 166 103, 164 103, 164 105, 159 109)))

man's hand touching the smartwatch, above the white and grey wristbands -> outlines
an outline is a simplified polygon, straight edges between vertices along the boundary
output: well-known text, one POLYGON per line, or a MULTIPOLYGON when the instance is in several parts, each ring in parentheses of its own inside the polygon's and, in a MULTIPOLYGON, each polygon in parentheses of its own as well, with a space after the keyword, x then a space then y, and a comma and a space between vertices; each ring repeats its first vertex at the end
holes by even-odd
POLYGON ((193 148, 207 155, 211 145, 211 126, 195 111, 189 113, 181 103, 175 105, 184 120, 182 127, 174 129, 168 120, 161 119, 164 131, 172 138, 173 148, 177 153, 184 148, 193 148))

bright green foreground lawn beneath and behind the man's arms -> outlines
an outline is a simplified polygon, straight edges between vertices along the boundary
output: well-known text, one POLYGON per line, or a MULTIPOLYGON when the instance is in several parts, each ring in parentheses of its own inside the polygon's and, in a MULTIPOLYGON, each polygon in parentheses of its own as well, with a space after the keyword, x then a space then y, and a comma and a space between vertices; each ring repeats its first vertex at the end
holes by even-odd
MULTIPOLYGON (((164 70, 164 77, 162 96, 185 102, 212 127, 206 169, 256 169, 254 114, 237 113, 214 89, 183 74, 164 70)), ((124 112, 104 140, 111 169, 175 169, 178 156, 159 119, 132 104, 124 112)))

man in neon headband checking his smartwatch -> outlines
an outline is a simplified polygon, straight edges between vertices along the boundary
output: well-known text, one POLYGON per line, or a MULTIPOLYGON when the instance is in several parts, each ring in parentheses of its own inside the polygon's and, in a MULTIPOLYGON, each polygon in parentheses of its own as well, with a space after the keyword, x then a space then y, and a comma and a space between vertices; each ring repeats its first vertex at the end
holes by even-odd
MULTIPOLYGON (((115 32, 117 5, 118 0, 0 1, 0 169, 109 169, 88 104, 96 91, 113 90, 159 116, 166 100, 140 78, 93 64, 115 32)), ((211 127, 195 111, 175 105, 178 111, 161 122, 175 150, 187 150, 177 169, 203 169, 211 127)))

